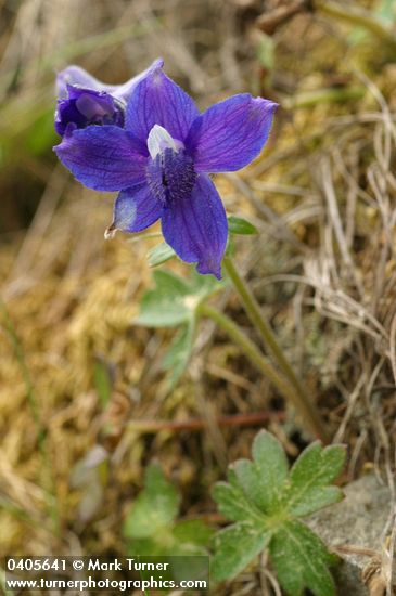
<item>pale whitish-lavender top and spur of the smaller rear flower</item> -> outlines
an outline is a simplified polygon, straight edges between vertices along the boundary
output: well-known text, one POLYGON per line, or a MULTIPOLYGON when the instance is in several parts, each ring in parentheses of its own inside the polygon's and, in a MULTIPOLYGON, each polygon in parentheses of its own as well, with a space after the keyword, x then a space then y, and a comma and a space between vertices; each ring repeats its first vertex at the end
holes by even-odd
POLYGON ((154 60, 149 68, 146 68, 136 77, 132 77, 124 85, 105 85, 104 82, 100 81, 99 79, 87 73, 87 70, 85 70, 84 68, 72 64, 56 75, 56 95, 60 100, 67 98, 67 85, 75 85, 84 87, 86 89, 106 91, 117 99, 127 101, 137 85, 153 69, 161 68, 163 64, 164 61, 162 59, 154 60))

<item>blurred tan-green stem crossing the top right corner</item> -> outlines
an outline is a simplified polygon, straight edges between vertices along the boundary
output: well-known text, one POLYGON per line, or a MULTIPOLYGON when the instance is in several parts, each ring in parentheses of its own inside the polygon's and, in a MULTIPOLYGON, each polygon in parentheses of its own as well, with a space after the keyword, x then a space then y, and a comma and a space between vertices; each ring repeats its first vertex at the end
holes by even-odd
POLYGON ((363 27, 378 37, 381 41, 386 43, 386 46, 396 51, 395 34, 388 27, 383 25, 383 23, 370 11, 361 7, 348 7, 345 2, 341 4, 329 0, 320 0, 316 2, 315 8, 318 12, 321 12, 327 16, 345 21, 345 23, 348 23, 349 25, 363 27))

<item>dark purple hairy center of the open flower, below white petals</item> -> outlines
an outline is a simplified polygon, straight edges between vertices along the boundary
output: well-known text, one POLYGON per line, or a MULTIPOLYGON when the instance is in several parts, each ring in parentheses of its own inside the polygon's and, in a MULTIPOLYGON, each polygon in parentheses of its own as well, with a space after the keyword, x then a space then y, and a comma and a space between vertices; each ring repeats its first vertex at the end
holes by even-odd
POLYGON ((191 195, 196 173, 193 160, 183 150, 165 148, 149 160, 146 178, 151 192, 166 207, 191 195))

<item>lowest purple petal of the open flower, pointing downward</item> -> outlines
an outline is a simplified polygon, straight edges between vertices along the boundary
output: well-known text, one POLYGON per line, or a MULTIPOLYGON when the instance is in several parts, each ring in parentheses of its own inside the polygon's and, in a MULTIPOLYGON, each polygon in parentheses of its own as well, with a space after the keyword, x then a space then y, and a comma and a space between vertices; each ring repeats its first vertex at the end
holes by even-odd
POLYGON ((199 273, 221 277, 228 223, 212 180, 202 174, 189 197, 170 203, 163 212, 165 241, 186 262, 197 262, 199 273))

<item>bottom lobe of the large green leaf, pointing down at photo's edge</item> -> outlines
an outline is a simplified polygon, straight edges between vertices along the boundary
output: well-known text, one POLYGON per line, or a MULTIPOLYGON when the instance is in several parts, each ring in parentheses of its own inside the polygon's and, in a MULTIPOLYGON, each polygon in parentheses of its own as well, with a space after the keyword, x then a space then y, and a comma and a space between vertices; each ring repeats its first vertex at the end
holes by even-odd
POLYGON ((299 596, 309 588, 316 596, 334 596, 328 566, 334 565, 321 540, 301 521, 288 521, 269 545, 271 561, 283 589, 299 596))

